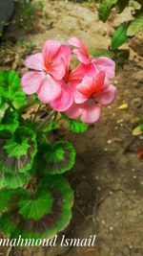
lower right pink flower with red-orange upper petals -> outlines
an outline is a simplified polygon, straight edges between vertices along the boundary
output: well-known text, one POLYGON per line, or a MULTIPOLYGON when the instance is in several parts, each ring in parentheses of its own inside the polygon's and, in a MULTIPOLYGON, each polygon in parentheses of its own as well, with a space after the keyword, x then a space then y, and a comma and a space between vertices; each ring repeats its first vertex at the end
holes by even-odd
POLYGON ((81 118, 87 124, 97 122, 101 116, 100 105, 111 105, 116 93, 116 88, 107 83, 105 72, 100 71, 96 77, 85 77, 76 86, 74 92, 75 103, 66 111, 72 118, 81 118))

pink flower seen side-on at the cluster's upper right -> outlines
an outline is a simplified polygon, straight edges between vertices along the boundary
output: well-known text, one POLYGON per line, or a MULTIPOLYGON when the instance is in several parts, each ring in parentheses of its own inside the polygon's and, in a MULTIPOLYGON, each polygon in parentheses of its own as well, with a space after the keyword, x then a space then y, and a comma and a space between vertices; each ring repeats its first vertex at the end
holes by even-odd
POLYGON ((114 77, 115 63, 111 58, 93 58, 85 44, 76 37, 72 37, 69 43, 77 47, 72 52, 81 62, 81 65, 78 67, 81 76, 85 74, 86 76, 93 77, 99 71, 104 71, 108 79, 114 77))

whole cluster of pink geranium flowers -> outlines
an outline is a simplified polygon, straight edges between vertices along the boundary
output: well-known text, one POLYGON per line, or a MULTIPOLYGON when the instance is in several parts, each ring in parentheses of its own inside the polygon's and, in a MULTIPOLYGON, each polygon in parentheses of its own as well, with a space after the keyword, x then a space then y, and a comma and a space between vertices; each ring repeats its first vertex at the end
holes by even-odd
POLYGON ((99 105, 111 105, 114 100, 116 88, 110 84, 114 61, 93 58, 76 37, 69 40, 69 45, 47 40, 42 53, 26 59, 26 66, 31 71, 22 77, 23 91, 29 95, 37 93, 41 102, 66 112, 72 119, 92 124, 101 116, 99 105), (72 53, 80 63, 71 71, 72 53))

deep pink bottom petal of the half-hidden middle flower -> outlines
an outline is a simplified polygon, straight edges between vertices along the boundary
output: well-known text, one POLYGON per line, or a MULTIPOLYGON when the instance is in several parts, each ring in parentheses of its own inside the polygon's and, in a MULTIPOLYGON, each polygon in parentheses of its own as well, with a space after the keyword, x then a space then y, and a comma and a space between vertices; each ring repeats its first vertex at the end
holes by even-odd
POLYGON ((56 111, 66 111, 71 107, 73 103, 73 94, 72 90, 67 83, 62 85, 61 95, 53 102, 51 102, 51 107, 56 111))

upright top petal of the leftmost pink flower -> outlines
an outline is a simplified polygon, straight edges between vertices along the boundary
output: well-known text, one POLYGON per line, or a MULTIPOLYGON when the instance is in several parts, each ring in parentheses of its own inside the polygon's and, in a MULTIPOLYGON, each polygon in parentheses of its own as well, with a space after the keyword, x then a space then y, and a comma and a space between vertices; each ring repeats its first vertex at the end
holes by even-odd
POLYGON ((50 39, 45 42, 43 46, 42 54, 43 54, 46 67, 49 67, 50 61, 53 60, 59 48, 60 48, 60 43, 58 41, 50 39))

